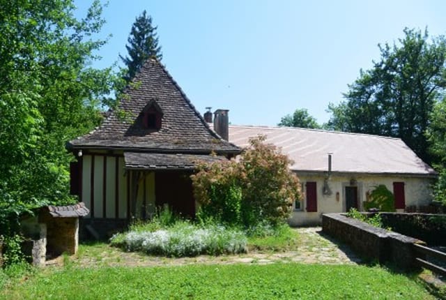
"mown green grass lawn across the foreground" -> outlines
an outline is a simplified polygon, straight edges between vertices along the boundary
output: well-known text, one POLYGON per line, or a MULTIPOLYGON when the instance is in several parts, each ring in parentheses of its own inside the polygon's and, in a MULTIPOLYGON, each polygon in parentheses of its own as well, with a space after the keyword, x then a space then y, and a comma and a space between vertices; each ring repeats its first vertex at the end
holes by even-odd
POLYGON ((45 269, 1 299, 434 299, 380 267, 316 264, 45 269))

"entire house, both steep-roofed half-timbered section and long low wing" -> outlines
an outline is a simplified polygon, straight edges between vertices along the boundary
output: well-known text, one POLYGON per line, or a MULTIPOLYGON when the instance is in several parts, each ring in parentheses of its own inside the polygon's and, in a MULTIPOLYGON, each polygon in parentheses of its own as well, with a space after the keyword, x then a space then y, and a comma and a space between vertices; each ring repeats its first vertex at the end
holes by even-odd
POLYGON ((396 207, 431 202, 436 172, 400 139, 303 128, 228 125, 228 111, 197 112, 159 62, 150 59, 125 91, 116 112, 91 133, 68 142, 71 192, 89 208, 81 227, 93 237, 150 218, 169 205, 194 216, 192 174, 199 161, 238 155, 249 137, 266 135, 282 148, 305 197, 294 204, 291 225, 321 223, 322 213, 364 209, 379 184, 396 207), (228 142, 229 140, 229 142, 228 142), (213 153, 213 155, 210 155, 213 153))

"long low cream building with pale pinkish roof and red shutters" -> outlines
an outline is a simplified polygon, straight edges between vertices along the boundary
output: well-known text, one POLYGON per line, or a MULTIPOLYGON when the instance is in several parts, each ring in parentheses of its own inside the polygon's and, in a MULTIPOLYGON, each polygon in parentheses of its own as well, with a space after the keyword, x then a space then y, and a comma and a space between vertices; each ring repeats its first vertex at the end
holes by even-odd
POLYGON ((294 204, 291 225, 321 223, 323 213, 364 210, 378 185, 394 193, 395 208, 429 205, 436 172, 399 138, 274 126, 229 126, 229 142, 246 147, 249 137, 266 135, 294 161, 291 170, 304 197, 294 204))

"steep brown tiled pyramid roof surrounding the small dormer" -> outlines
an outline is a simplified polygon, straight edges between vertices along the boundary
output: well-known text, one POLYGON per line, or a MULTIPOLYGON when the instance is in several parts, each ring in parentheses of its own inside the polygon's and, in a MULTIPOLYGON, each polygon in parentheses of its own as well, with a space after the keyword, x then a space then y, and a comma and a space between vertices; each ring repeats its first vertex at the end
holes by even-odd
POLYGON ((161 63, 146 61, 132 80, 119 110, 130 116, 123 121, 112 112, 100 128, 68 143, 74 149, 124 149, 174 153, 238 153, 240 149, 210 130, 185 93, 161 63), (143 126, 144 107, 155 101, 162 110, 160 130, 143 126))

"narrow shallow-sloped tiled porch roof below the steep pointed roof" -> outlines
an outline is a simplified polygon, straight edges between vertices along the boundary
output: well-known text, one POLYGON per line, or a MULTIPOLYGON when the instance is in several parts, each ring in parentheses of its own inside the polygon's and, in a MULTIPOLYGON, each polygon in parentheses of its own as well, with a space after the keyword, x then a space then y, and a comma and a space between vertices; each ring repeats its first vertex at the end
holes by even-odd
POLYGON ((125 168, 137 170, 194 170, 200 162, 226 160, 223 156, 124 152, 125 168))

